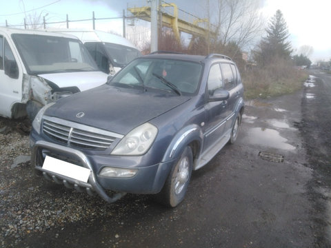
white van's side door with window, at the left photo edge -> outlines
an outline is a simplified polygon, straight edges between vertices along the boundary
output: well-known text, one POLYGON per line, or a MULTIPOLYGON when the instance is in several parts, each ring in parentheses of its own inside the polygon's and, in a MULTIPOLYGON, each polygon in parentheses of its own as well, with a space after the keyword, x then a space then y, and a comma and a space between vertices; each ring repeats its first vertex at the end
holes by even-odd
POLYGON ((0 115, 12 116, 14 103, 21 103, 22 72, 8 39, 0 34, 0 115))

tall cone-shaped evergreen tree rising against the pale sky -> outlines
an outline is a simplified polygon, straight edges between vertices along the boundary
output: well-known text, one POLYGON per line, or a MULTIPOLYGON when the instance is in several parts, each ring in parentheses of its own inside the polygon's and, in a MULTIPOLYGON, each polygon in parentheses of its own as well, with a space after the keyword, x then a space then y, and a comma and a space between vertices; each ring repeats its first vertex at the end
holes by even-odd
POLYGON ((286 41, 290 34, 281 10, 277 10, 265 31, 267 37, 261 40, 259 49, 254 52, 257 63, 265 66, 278 59, 290 59, 291 43, 286 41))

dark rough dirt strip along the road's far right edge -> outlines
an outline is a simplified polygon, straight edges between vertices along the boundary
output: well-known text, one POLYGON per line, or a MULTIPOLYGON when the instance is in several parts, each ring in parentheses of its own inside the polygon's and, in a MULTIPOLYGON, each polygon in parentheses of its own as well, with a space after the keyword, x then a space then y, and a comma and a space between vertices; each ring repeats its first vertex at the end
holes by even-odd
POLYGON ((314 206, 314 226, 319 233, 316 247, 331 243, 331 74, 318 70, 312 87, 305 87, 301 103, 302 121, 298 127, 303 136, 308 166, 313 178, 307 184, 308 198, 314 206))

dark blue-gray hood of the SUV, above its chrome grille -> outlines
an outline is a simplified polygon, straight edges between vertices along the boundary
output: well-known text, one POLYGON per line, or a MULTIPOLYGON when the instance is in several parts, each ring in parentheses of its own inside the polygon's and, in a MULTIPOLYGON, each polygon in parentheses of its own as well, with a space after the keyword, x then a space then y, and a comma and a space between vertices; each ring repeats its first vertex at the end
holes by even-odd
POLYGON ((105 84, 61 99, 45 114, 125 135, 134 127, 189 100, 189 96, 105 84), (80 112, 84 115, 78 118, 80 112))

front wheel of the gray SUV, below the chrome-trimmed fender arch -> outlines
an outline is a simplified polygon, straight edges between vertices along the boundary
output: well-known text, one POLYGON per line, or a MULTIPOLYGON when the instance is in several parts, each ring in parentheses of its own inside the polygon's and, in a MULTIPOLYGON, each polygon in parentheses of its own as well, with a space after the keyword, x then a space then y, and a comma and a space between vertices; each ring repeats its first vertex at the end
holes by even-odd
POLYGON ((192 174, 193 155, 192 149, 185 147, 177 163, 172 167, 171 172, 165 180, 157 200, 166 207, 176 207, 185 197, 192 174))

